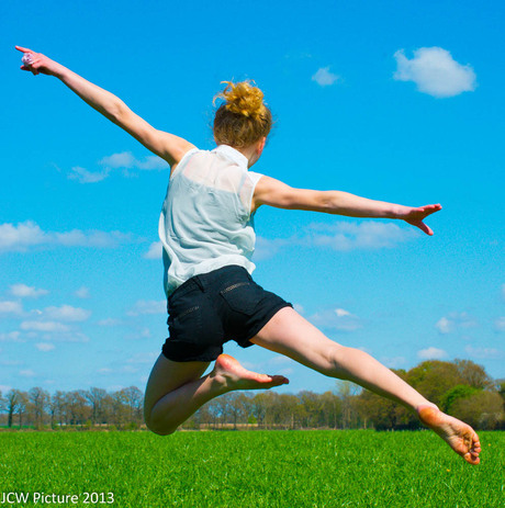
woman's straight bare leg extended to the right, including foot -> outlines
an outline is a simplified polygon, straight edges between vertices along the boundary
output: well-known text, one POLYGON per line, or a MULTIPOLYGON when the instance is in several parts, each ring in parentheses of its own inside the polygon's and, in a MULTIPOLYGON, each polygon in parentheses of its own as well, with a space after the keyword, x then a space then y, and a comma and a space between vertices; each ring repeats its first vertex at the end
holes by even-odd
POLYGON ((328 339, 293 308, 281 308, 250 341, 325 375, 352 381, 403 404, 416 411, 423 424, 437 432, 465 461, 479 463, 481 445, 470 426, 439 411, 435 404, 370 354, 328 339))

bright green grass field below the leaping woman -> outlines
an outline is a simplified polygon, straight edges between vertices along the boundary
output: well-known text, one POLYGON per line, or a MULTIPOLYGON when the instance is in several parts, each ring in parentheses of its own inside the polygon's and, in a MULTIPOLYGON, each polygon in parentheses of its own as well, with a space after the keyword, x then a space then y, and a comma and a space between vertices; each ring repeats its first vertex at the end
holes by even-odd
POLYGON ((428 431, 2 432, 0 506, 501 508, 505 432, 481 441, 471 466, 428 431), (2 505, 10 492, 31 500, 2 505))

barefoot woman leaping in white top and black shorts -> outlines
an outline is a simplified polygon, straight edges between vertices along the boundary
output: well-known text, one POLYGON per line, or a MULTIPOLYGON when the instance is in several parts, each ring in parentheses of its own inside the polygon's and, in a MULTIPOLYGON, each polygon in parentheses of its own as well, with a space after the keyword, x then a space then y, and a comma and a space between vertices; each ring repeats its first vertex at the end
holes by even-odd
POLYGON ((250 276, 252 217, 261 205, 403 219, 427 235, 433 232, 423 221, 440 205, 409 207, 338 191, 292 189, 249 171, 262 154, 272 121, 261 91, 248 82, 228 83, 218 95, 224 102, 214 121, 217 148, 199 150, 186 139, 155 129, 119 98, 56 61, 27 48, 16 49, 31 54, 22 70, 57 77, 171 167, 159 223, 170 337, 147 383, 145 420, 150 430, 172 433, 199 407, 226 392, 288 383, 281 375, 248 371, 223 354, 223 343, 233 339, 244 348, 259 345, 396 400, 467 462, 480 462, 481 447, 471 427, 441 413, 366 352, 325 337, 250 276), (212 372, 202 376, 212 361, 212 372))

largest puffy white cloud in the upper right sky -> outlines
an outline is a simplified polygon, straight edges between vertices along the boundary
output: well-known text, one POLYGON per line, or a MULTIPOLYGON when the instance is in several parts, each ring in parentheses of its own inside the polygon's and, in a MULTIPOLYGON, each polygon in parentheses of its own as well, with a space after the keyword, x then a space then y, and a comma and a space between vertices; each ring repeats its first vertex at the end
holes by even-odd
POLYGON ((419 92, 436 98, 458 95, 475 90, 475 72, 470 65, 461 65, 441 47, 420 47, 411 60, 403 49, 394 54, 397 69, 394 79, 414 81, 419 92))

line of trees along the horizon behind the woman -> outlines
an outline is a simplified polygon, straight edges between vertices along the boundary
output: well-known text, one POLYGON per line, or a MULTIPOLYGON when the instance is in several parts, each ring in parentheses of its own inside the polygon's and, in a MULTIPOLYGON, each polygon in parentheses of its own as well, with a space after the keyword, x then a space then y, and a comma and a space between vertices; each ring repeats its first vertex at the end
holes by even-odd
MULTIPOLYGON (((475 429, 505 429, 505 380, 493 380, 469 360, 429 360, 399 376, 449 415, 475 429)), ((9 429, 144 428, 143 393, 135 386, 0 393, 0 425, 9 429)), ((201 407, 183 429, 417 429, 416 416, 403 406, 359 386, 337 381, 322 394, 302 391, 233 392, 201 407)))

